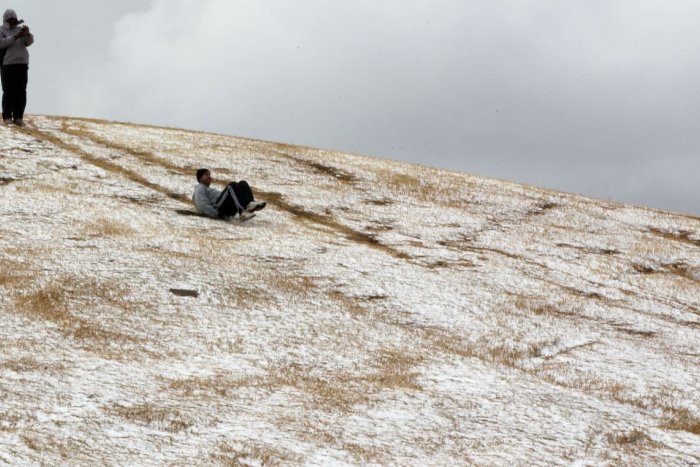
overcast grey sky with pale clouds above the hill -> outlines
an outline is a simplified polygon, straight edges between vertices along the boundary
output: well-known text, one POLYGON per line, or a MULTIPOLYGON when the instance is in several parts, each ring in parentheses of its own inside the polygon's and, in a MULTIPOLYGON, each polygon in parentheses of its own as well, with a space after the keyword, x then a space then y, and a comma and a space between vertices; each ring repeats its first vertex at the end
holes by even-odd
POLYGON ((697 0, 23 0, 27 112, 700 215, 697 0))

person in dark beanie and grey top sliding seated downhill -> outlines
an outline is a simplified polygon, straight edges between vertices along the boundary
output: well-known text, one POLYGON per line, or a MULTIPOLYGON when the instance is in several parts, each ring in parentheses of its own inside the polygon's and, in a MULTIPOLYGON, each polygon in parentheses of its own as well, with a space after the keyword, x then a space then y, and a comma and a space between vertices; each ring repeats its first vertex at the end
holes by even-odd
POLYGON ((197 186, 194 187, 192 201, 197 211, 213 219, 240 216, 241 222, 255 217, 267 203, 255 201, 253 191, 245 180, 229 183, 224 191, 211 188, 212 176, 209 169, 197 170, 197 186))

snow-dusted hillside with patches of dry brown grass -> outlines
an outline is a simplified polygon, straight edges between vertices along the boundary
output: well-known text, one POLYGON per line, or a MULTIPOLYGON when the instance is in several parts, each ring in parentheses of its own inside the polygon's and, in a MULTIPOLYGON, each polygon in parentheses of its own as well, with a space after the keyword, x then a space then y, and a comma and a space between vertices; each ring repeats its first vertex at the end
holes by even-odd
POLYGON ((0 128, 0 463, 700 463, 697 218, 27 121, 0 128), (268 208, 192 215, 202 166, 268 208))

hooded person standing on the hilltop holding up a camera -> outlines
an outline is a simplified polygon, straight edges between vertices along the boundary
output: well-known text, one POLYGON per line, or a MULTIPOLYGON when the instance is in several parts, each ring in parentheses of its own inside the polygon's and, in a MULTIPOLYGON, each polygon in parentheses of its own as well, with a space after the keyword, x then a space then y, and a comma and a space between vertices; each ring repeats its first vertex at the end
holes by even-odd
POLYGON ((21 26, 15 10, 5 10, 0 26, 2 49, 2 120, 5 123, 24 125, 24 108, 27 106, 27 79, 29 52, 34 36, 27 26, 21 26))

